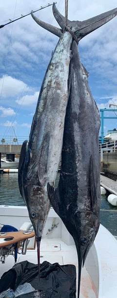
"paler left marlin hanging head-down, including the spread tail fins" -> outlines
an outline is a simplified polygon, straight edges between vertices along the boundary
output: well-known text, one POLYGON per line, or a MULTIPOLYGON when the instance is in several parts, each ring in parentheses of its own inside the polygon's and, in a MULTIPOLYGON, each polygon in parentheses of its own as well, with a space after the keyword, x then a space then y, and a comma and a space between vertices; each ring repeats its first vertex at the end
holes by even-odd
MULTIPOLYGON (((53 12, 56 16, 60 16, 55 4, 53 4, 53 12)), ((39 262, 40 240, 50 210, 47 183, 49 182, 50 185, 54 186, 62 149, 64 118, 68 101, 67 80, 70 64, 70 47, 73 40, 72 31, 73 35, 74 33, 77 35, 78 24, 80 23, 81 39, 95 30, 95 26, 97 28, 97 19, 96 24, 93 24, 94 21, 91 21, 91 23, 90 21, 89 23, 87 21, 73 22, 74 28, 72 31, 70 29, 69 32, 69 30, 64 31, 64 20, 62 21, 61 30, 40 21, 33 13, 31 14, 39 25, 60 38, 40 89, 28 147, 26 149, 25 141, 22 145, 19 163, 20 193, 26 203, 30 220, 34 226, 39 262), (85 22, 88 26, 88 33, 83 33, 83 30, 86 31, 86 28, 83 29, 85 22), (93 28, 90 29, 90 26, 93 26, 93 28)), ((108 13, 105 19, 103 14, 103 17, 99 19, 98 27, 101 25, 101 22, 104 23, 109 21, 109 18, 113 18, 114 14, 115 10, 111 11, 112 17, 108 13)))

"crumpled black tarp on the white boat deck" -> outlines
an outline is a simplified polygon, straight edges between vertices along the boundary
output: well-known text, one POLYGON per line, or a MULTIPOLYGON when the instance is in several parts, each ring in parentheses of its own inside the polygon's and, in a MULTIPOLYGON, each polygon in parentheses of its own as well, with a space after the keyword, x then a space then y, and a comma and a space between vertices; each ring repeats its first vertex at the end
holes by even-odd
MULTIPOLYGON (((9 287, 14 291, 25 282, 41 292, 42 298, 76 298, 76 267, 74 265, 40 264, 40 281, 38 265, 23 261, 5 272, 0 279, 0 293, 9 287)), ((20 295, 20 298, 34 298, 36 292, 20 295)))

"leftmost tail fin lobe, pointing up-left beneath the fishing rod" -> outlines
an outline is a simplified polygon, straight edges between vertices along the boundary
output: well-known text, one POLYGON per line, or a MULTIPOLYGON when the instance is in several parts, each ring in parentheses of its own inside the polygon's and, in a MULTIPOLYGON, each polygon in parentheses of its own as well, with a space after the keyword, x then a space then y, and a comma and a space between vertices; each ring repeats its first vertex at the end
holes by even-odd
POLYGON ((57 28, 57 27, 52 26, 44 21, 39 20, 37 17, 34 16, 34 14, 32 12, 31 12, 31 16, 34 19, 34 21, 36 21, 39 24, 39 26, 41 26, 42 28, 50 31, 51 33, 53 33, 59 37, 62 35, 60 28, 57 28))

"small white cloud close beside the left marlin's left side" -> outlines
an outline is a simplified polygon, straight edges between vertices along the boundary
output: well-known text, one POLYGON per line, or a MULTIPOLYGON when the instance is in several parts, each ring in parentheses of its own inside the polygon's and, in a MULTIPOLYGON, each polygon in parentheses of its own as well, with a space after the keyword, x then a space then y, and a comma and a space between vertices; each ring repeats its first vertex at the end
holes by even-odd
POLYGON ((25 95, 20 98, 20 100, 16 100, 16 103, 22 106, 30 106, 36 104, 38 101, 39 92, 35 92, 34 95, 25 95))

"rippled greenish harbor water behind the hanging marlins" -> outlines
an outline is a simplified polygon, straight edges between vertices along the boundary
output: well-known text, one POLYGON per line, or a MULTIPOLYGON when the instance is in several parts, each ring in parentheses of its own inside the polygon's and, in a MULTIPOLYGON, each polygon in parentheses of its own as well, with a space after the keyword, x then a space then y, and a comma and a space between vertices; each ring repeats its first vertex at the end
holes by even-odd
MULTIPOLYGON (((59 182, 59 173, 55 187, 59 182)), ((0 205, 25 206, 20 195, 17 173, 0 173, 0 205)), ((100 222, 113 235, 117 236, 117 207, 107 201, 107 194, 101 195, 100 222)))

